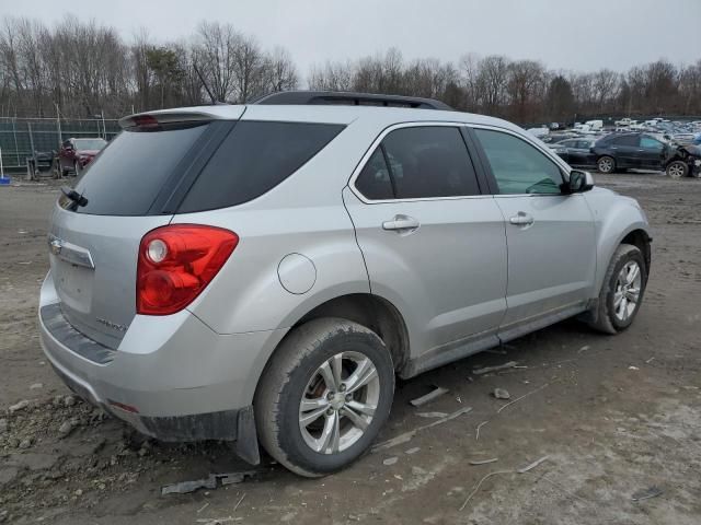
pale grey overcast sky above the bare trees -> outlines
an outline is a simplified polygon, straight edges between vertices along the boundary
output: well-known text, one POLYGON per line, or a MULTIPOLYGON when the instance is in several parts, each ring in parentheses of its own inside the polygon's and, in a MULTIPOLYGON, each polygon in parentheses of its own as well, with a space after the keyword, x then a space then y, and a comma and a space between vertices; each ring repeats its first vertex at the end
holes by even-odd
POLYGON ((66 13, 95 19, 129 39, 192 34, 200 20, 230 22, 264 47, 289 49, 300 73, 326 59, 391 46, 405 59, 455 60, 466 52, 541 60, 589 71, 667 58, 701 58, 701 0, 2 0, 0 15, 47 24, 66 13))

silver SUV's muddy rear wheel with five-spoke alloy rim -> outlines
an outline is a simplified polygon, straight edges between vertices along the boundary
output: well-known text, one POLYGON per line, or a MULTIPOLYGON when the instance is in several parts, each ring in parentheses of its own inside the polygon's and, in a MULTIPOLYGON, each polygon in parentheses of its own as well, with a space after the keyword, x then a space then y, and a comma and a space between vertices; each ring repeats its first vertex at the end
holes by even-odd
POLYGON ((261 444, 300 476, 335 472, 375 441, 393 395, 394 366, 377 334, 346 319, 310 320, 287 336, 258 384, 261 444))

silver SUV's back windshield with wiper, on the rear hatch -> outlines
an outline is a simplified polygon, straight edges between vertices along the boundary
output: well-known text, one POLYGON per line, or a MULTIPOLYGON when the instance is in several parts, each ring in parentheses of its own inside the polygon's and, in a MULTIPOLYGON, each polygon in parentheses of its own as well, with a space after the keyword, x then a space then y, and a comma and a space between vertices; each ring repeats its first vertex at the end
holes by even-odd
MULTIPOLYGON (((78 213, 145 215, 207 125, 165 131, 122 131, 76 185, 88 199, 78 213)), ((174 183, 172 183, 174 184, 174 183)), ((65 202, 61 202, 64 206, 65 202)))

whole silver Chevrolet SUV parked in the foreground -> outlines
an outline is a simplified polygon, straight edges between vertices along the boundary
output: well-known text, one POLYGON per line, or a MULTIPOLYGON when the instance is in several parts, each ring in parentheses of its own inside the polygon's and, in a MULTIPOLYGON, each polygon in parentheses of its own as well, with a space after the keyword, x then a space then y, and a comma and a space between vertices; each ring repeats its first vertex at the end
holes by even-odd
POLYGON ((395 375, 640 307, 637 202, 504 120, 296 92, 120 124, 54 210, 42 342, 159 440, 323 476, 377 438, 395 375))

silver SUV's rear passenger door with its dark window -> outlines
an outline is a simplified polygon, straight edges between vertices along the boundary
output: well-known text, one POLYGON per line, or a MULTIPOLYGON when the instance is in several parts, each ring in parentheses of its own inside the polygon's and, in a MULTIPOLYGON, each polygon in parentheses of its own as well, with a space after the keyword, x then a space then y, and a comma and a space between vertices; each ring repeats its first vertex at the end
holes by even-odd
POLYGON ((404 314, 413 357, 495 334, 506 301, 502 213, 455 125, 400 125, 344 190, 370 288, 404 314))

